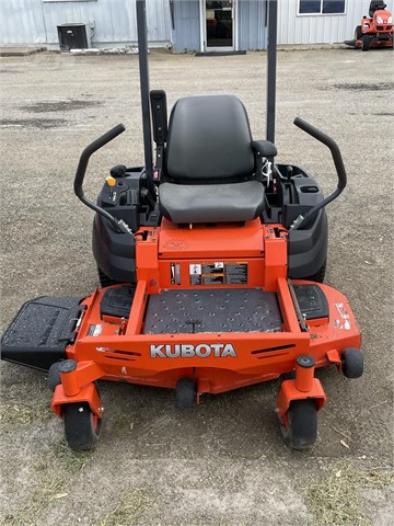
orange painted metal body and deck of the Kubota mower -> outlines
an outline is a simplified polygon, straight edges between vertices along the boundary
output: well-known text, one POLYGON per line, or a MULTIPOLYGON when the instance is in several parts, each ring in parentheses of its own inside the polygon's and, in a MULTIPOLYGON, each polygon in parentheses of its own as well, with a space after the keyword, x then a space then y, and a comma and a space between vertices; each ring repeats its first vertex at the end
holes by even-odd
MULTIPOLYGON (((138 285, 128 320, 101 317, 100 306, 106 289, 95 290, 83 301, 86 309, 76 341, 66 348, 67 357, 77 362, 77 369, 61 374, 62 386, 57 388, 53 403, 58 414, 62 403, 89 399, 86 386, 99 378, 174 388, 179 378, 190 377, 199 396, 277 378, 294 369, 300 354, 313 356, 315 366, 322 367, 338 364, 345 347, 360 347, 360 333, 345 296, 325 285, 318 286, 328 300, 328 318, 313 320, 309 331, 301 330, 286 278, 287 232, 280 225, 265 226, 255 220, 244 226, 179 229, 164 219, 160 229, 144 228, 136 238, 138 285), (201 268, 208 265, 215 274, 218 262, 220 279, 208 285, 201 275, 194 281, 190 274, 194 264, 201 268), (241 265, 241 283, 225 282, 227 264, 241 265), (163 289, 215 290, 223 286, 258 287, 276 293, 281 330, 143 333, 150 295, 163 289)), ((313 398, 323 400, 324 392, 313 377, 306 381, 300 376, 300 385, 312 386, 313 398)), ((309 388, 308 392, 300 391, 293 384, 286 389, 280 395, 281 412, 287 410, 291 397, 312 396, 309 388)), ((90 403, 99 414, 94 392, 90 393, 90 403)))

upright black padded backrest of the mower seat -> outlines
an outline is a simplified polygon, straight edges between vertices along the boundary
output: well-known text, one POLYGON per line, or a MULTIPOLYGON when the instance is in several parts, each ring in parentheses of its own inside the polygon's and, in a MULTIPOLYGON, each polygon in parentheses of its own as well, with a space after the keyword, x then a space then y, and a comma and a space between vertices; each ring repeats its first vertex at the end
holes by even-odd
POLYGON ((255 170, 251 142, 246 110, 236 96, 179 99, 170 117, 166 174, 179 183, 244 180, 255 170))

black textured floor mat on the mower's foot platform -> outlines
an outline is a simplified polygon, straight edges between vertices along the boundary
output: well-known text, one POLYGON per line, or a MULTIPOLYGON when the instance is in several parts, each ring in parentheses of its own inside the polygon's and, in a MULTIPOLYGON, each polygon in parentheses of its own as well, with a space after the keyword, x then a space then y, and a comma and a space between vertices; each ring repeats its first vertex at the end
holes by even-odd
POLYGON ((164 290, 150 296, 143 332, 278 332, 281 324, 276 295, 260 288, 164 290))

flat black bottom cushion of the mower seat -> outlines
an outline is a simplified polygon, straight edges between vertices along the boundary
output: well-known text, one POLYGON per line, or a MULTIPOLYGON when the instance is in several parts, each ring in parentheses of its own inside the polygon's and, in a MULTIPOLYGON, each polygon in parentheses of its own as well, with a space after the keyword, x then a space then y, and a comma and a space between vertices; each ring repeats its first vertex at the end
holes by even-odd
POLYGON ((159 203, 162 214, 175 224, 250 221, 263 210, 264 186, 259 181, 163 183, 159 186, 159 203))

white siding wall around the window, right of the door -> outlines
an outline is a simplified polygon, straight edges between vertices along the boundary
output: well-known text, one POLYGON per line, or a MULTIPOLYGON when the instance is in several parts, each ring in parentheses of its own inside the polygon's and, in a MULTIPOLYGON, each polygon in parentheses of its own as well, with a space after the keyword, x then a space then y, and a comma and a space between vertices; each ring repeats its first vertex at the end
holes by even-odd
MULTIPOLYGON (((298 15, 299 0, 278 0, 278 44, 333 44, 350 41, 370 0, 346 0, 346 14, 298 15)), ((393 1, 385 0, 393 11, 393 1)))

